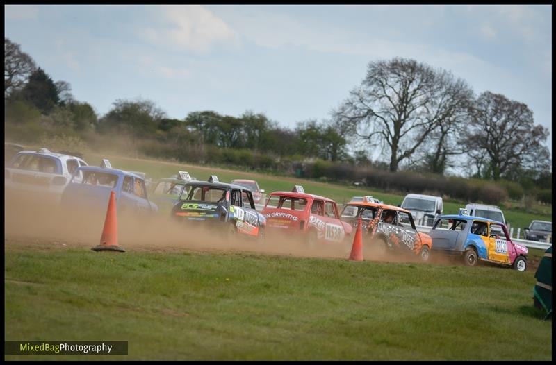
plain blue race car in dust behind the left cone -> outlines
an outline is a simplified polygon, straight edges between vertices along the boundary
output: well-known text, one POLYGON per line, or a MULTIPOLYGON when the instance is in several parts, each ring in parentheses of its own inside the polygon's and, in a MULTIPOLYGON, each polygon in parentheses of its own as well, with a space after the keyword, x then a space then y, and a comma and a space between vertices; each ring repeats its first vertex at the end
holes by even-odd
POLYGON ((129 171, 108 167, 79 167, 65 188, 60 205, 64 210, 85 210, 104 217, 111 191, 118 214, 150 216, 158 206, 149 201, 145 180, 129 171), (83 178, 78 176, 83 175, 83 178))

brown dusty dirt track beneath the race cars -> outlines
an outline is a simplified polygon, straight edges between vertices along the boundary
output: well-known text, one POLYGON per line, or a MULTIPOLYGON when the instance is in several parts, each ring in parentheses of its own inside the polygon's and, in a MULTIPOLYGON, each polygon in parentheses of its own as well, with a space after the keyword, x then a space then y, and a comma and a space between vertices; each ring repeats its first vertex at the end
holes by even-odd
MULTIPOLYGON (((92 248, 100 241, 104 226, 104 212, 83 214, 83 212, 62 212, 58 207, 38 205, 36 202, 14 200, 10 196, 5 213, 5 241, 18 242, 28 246, 50 248, 83 247, 92 248), (17 202, 17 203, 15 203, 17 202), (86 217, 86 219, 84 218, 86 217)), ((206 251, 229 252, 246 251, 268 255, 291 255, 295 257, 322 257, 347 260, 351 244, 320 244, 311 248, 300 239, 277 235, 268 231, 266 239, 259 241, 252 237, 225 236, 218 230, 192 229, 170 221, 169 217, 132 219, 119 217, 118 244, 126 251, 206 251)), ((419 262, 417 257, 388 255, 377 257, 363 251, 365 260, 387 262, 419 262)), ((538 260, 528 260, 529 270, 535 270, 538 260)), ((454 260, 432 255, 432 264, 459 265, 454 260)))

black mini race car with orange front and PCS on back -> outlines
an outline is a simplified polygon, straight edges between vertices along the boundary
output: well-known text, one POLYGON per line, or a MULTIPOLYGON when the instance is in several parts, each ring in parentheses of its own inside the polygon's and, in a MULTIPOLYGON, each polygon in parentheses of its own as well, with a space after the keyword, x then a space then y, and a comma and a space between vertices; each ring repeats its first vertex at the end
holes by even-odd
POLYGON ((252 192, 246 187, 218 181, 190 181, 183 187, 171 215, 190 226, 218 226, 223 232, 263 239, 266 219, 255 210, 252 192))

